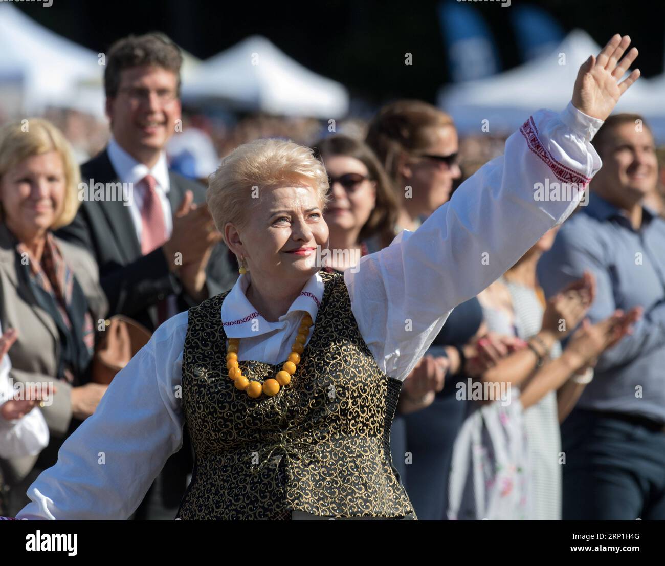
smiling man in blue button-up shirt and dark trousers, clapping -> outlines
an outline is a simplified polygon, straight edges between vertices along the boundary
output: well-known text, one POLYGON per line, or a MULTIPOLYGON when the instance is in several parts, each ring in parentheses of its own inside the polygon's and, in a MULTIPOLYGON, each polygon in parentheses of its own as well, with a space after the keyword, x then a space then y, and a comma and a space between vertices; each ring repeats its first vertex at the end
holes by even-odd
POLYGON ((653 136, 636 114, 610 116, 593 142, 602 168, 589 206, 538 265, 549 297, 595 275, 592 322, 643 309, 632 335, 600 355, 561 427, 564 519, 665 519, 665 219, 643 204, 656 186, 653 136))

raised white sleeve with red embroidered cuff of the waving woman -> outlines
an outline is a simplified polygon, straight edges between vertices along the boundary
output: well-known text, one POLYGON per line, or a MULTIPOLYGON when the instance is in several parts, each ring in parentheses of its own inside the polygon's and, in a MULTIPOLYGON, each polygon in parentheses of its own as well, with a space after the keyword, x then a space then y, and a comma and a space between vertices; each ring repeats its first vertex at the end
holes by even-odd
POLYGON ((498 279, 584 199, 602 125, 569 104, 539 110, 415 232, 344 272, 358 329, 381 370, 404 380, 456 305, 498 279))

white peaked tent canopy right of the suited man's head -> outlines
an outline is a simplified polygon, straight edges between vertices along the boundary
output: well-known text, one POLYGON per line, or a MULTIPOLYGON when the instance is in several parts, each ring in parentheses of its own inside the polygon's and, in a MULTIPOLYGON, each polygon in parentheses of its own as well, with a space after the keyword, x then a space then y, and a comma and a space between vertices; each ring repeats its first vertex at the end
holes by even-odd
POLYGON ((340 118, 348 111, 344 86, 305 69, 261 36, 199 65, 183 85, 183 99, 287 116, 340 118))

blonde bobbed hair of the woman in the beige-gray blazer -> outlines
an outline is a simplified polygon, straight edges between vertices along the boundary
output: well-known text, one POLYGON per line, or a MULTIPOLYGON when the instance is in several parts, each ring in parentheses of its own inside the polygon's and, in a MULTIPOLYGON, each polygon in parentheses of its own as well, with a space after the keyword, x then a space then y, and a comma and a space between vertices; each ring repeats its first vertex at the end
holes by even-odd
MULTIPOLYGON (((63 132, 43 118, 17 120, 0 127, 0 179, 24 159, 52 151, 60 154, 65 170, 65 207, 51 226, 55 230, 70 223, 80 206, 80 170, 69 142, 63 132)), ((0 207, 0 215, 4 214, 0 207)))

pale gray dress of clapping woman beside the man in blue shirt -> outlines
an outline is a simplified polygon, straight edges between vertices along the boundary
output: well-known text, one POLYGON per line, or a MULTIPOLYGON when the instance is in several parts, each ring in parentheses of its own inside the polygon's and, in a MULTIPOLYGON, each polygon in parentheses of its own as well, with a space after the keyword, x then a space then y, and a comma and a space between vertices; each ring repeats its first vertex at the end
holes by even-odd
MULTIPOLYGON (((528 340, 539 333, 543 323, 543 303, 537 293, 524 285, 503 279, 510 291, 515 309, 517 335, 528 340)), ((552 358, 561 355, 561 345, 555 343, 552 358)), ((551 391, 524 412, 531 473, 534 490, 534 519, 561 520, 561 434, 557 413, 557 392, 551 391)))

